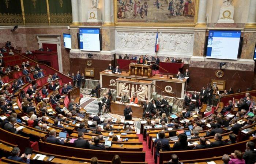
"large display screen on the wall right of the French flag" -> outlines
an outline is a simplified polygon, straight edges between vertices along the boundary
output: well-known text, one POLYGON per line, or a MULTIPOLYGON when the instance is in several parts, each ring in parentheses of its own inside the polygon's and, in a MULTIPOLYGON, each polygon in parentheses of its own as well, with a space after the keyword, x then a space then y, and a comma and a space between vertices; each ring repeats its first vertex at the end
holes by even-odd
POLYGON ((236 60, 241 31, 210 30, 207 44, 207 58, 236 60))

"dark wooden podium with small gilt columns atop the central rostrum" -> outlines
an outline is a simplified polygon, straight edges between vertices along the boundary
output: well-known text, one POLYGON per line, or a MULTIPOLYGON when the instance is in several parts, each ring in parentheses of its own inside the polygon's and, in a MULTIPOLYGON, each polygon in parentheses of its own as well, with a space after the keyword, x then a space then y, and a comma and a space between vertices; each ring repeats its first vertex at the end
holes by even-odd
POLYGON ((130 76, 152 77, 153 65, 129 64, 130 76))

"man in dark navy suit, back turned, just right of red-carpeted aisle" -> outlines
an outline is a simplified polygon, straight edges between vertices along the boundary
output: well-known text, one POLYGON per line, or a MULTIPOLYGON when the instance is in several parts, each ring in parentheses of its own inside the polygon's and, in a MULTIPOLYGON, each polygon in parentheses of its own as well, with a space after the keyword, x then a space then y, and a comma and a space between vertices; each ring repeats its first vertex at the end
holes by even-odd
POLYGON ((159 155, 160 149, 162 149, 163 152, 171 151, 171 147, 169 144, 169 141, 165 138, 165 132, 160 131, 158 132, 158 139, 155 140, 155 161, 157 160, 157 156, 159 155))

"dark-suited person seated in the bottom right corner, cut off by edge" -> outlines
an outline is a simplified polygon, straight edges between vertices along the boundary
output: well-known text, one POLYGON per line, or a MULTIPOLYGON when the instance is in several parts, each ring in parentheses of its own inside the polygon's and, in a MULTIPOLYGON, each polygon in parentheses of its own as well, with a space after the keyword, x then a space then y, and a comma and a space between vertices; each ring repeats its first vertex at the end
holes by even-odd
POLYGON ((254 164, 256 163, 256 151, 254 150, 255 143, 252 141, 248 141, 246 143, 246 151, 243 155, 243 159, 246 164, 254 164))

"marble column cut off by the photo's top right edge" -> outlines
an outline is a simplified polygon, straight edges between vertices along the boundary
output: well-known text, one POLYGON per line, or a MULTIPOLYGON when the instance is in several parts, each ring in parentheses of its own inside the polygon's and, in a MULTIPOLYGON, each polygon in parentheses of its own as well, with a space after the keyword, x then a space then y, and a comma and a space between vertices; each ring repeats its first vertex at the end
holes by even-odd
POLYGON ((256 0, 250 0, 250 8, 245 28, 256 28, 256 0))

